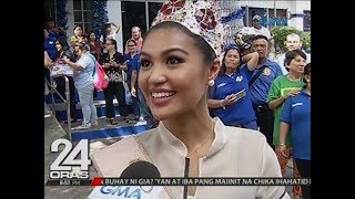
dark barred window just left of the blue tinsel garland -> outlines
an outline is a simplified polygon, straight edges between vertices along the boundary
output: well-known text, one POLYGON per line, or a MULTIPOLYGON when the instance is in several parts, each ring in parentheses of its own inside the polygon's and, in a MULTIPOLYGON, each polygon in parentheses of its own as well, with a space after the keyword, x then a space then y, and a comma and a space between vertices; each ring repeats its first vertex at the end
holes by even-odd
POLYGON ((83 33, 92 30, 91 1, 73 0, 74 25, 80 25, 83 33))

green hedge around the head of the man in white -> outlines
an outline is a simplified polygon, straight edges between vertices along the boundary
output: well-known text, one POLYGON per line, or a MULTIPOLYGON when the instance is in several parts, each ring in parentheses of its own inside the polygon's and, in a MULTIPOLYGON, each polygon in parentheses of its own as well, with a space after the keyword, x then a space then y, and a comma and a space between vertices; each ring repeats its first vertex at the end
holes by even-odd
POLYGON ((286 36, 291 33, 297 33, 301 35, 301 40, 303 43, 303 49, 306 52, 311 51, 311 33, 303 32, 293 27, 276 27, 271 31, 273 35, 276 53, 281 53, 284 51, 286 36))

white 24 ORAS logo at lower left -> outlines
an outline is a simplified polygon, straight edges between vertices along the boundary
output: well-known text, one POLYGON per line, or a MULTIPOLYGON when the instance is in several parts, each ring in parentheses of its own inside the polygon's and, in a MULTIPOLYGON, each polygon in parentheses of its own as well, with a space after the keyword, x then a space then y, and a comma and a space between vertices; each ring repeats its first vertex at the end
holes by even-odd
POLYGON ((64 145, 64 149, 50 166, 49 177, 51 179, 89 179, 89 165, 91 165, 89 140, 81 139, 73 148, 70 140, 57 139, 51 144, 50 151, 59 151, 60 145, 64 145))

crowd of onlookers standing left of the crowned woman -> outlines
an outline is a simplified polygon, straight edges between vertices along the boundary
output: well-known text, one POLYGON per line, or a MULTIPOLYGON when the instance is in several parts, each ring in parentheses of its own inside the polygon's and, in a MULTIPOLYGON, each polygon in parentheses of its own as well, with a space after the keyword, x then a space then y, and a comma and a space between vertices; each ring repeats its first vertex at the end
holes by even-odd
MULTIPOLYGON (((135 124, 140 116, 149 122, 149 127, 158 125, 156 119, 151 116, 149 107, 143 97, 136 95, 138 71, 140 67, 140 50, 142 46, 142 35, 139 27, 132 28, 132 38, 125 43, 125 54, 118 52, 115 34, 120 28, 114 23, 106 23, 102 28, 103 35, 97 35, 93 31, 88 34, 82 31, 80 25, 73 29, 73 35, 69 39, 63 29, 58 29, 52 20, 49 20, 44 28, 44 53, 47 56, 44 76, 50 81, 50 69, 58 61, 64 62, 74 71, 73 76, 68 76, 70 85, 70 109, 71 123, 78 122, 75 114, 75 92, 79 96, 79 103, 82 107, 82 124, 73 127, 74 130, 88 129, 97 126, 97 109, 94 98, 97 90, 93 86, 93 74, 95 62, 99 62, 109 77, 109 84, 103 88, 105 100, 106 118, 111 125, 119 122, 135 124), (61 32, 59 32, 59 30, 61 32), (125 100, 124 84, 132 93, 132 102, 125 100), (113 100, 119 103, 120 117, 113 105, 113 100)), ((65 92, 64 78, 54 77, 57 91, 62 95, 65 92)))

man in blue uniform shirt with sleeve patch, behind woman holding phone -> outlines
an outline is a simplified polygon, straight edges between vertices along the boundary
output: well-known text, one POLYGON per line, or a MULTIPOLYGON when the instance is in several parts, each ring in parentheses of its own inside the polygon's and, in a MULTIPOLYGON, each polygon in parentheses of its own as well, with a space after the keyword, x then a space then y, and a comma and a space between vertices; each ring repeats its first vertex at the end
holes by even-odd
POLYGON ((258 53, 258 62, 250 81, 250 93, 260 132, 265 135, 268 145, 273 147, 274 113, 268 108, 266 100, 273 81, 282 75, 282 71, 276 62, 267 59, 267 49, 266 36, 260 34, 252 39, 252 50, 258 53))

